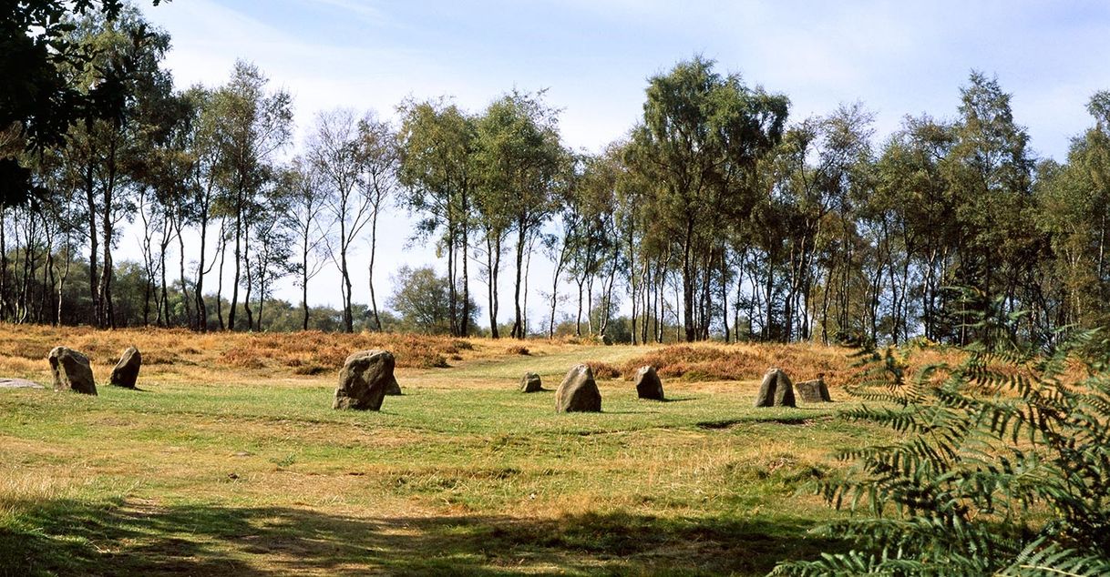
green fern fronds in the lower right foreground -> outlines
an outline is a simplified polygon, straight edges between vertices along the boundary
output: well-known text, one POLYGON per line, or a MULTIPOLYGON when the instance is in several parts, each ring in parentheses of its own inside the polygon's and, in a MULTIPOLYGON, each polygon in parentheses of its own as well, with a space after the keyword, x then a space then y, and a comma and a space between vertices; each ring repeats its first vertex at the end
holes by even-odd
MULTIPOLYGON (((969 312, 977 333, 1021 321, 1000 307, 969 312)), ((1089 354, 1104 349, 1100 338, 1079 332, 1043 357, 977 341, 959 349, 962 361, 912 375, 912 349, 865 348, 849 392, 881 404, 842 418, 894 434, 841 452, 855 467, 819 488, 859 514, 821 529, 855 548, 784 563, 775 574, 1106 575, 1110 364, 1089 354)))

